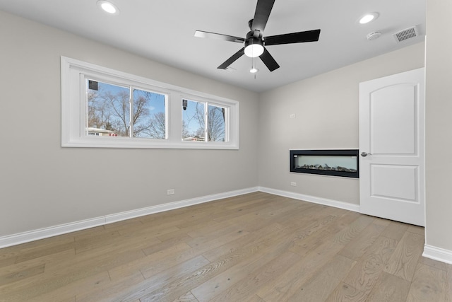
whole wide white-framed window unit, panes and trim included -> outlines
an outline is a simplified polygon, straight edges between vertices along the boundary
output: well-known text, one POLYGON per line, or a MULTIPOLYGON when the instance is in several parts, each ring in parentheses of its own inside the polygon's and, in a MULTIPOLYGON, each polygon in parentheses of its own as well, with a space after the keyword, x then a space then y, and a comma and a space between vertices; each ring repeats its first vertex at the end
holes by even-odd
POLYGON ((61 57, 64 147, 238 149, 238 115, 234 100, 61 57))

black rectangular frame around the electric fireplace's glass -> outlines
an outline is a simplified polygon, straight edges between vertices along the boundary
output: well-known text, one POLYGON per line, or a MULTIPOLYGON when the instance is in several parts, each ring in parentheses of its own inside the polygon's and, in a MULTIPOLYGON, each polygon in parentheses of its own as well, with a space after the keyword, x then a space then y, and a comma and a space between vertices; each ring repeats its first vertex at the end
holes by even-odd
POLYGON ((328 149, 328 150, 290 150, 290 172, 308 173, 318 175, 342 176, 346 178, 359 178, 359 150, 358 149, 328 149), (356 156, 356 172, 338 170, 318 170, 295 168, 295 158, 299 155, 313 156, 356 156))

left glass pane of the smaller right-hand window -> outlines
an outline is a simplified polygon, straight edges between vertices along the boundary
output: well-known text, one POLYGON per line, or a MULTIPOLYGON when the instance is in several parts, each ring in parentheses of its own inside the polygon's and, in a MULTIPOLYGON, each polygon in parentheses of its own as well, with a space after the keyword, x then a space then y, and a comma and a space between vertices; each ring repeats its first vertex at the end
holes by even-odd
POLYGON ((184 141, 205 141, 205 104, 194 100, 182 100, 182 139, 184 141))

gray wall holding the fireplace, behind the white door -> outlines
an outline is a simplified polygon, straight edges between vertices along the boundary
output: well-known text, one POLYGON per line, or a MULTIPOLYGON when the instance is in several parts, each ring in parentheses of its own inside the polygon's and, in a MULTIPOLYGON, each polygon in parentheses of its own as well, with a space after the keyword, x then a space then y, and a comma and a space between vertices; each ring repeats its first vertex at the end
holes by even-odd
POLYGON ((289 173, 289 149, 357 149, 359 82, 422 66, 423 42, 263 93, 259 185, 359 204, 359 180, 289 173))

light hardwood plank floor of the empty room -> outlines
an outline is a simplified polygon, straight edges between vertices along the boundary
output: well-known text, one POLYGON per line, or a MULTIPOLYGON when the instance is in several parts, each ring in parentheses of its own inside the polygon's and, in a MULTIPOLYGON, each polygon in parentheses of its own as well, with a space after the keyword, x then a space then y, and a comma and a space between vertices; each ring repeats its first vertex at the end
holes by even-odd
POLYGON ((424 228, 263 192, 0 249, 0 301, 452 301, 424 228))

